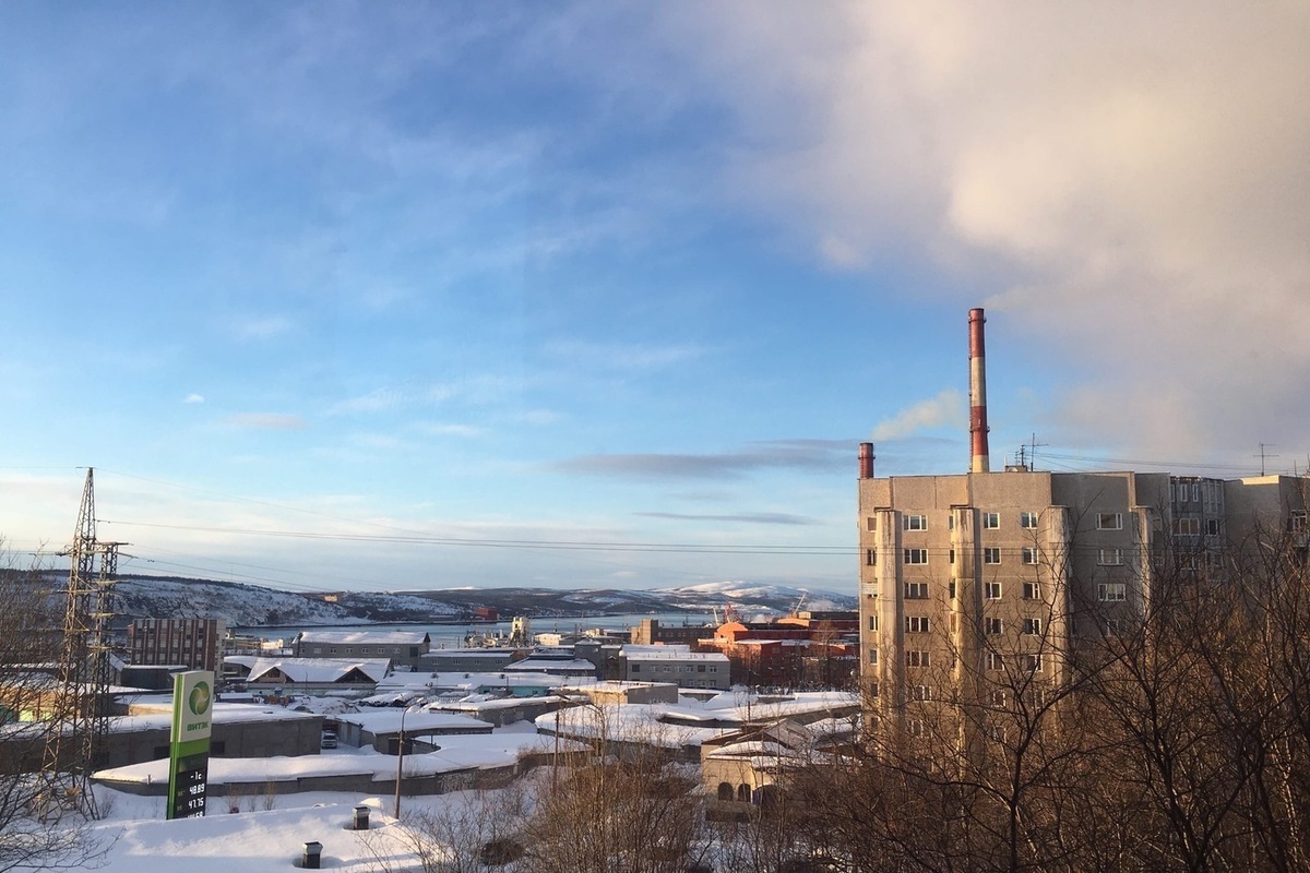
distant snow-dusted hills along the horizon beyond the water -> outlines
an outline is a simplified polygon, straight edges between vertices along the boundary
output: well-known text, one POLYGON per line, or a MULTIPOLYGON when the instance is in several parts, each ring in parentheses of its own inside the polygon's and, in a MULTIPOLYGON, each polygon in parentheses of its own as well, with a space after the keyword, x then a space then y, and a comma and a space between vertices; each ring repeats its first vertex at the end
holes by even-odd
POLYGON ((423 592, 282 592, 244 582, 176 576, 122 576, 114 611, 130 618, 221 618, 229 627, 360 622, 473 622, 477 607, 503 618, 710 613, 732 606, 745 618, 802 609, 855 609, 855 598, 782 585, 713 582, 660 590, 461 588, 423 592))

